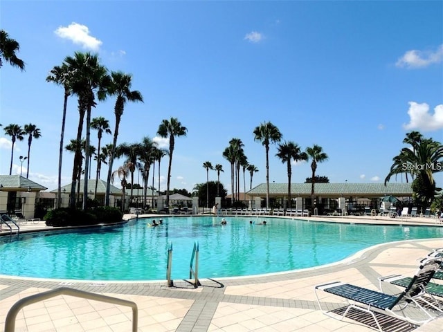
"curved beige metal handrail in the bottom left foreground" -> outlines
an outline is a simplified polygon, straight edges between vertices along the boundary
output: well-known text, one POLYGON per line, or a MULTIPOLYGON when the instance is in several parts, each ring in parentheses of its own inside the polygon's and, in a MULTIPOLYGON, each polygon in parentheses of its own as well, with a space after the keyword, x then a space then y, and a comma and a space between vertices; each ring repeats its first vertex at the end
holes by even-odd
POLYGON ((94 301, 118 304, 120 306, 130 306, 132 308, 132 332, 137 331, 138 308, 135 302, 127 301, 126 299, 118 299, 117 297, 110 297, 96 293, 79 291, 78 289, 73 288, 60 287, 52 289, 51 291, 46 291, 44 293, 30 295, 15 302, 15 304, 9 309, 8 315, 6 315, 5 332, 15 331, 15 319, 17 317, 17 313, 19 313, 21 308, 24 308, 24 306, 28 306, 29 304, 44 301, 45 299, 50 299, 51 297, 55 297, 57 295, 70 295, 75 297, 82 297, 83 299, 92 299, 94 301))

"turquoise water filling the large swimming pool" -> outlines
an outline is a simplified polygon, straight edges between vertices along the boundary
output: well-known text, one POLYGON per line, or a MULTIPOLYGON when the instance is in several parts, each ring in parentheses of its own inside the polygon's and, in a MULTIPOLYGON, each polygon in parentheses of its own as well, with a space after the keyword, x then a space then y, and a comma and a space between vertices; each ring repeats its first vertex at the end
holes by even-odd
POLYGON ((199 243, 199 277, 232 277, 309 268, 339 261, 378 243, 443 237, 443 228, 352 225, 291 219, 165 217, 113 228, 39 232, 0 238, 0 275, 87 280, 188 279, 199 243), (158 219, 157 219, 158 220, 158 219))

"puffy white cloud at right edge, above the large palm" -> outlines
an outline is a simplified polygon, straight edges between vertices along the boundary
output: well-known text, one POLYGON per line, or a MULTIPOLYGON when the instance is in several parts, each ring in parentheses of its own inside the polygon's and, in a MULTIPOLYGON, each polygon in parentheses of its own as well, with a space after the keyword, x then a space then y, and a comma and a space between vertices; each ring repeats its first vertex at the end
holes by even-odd
POLYGON ((429 112, 429 105, 426 102, 418 104, 409 102, 409 123, 404 124, 404 129, 419 129, 422 131, 434 131, 443 129, 443 104, 437 105, 434 113, 429 112))

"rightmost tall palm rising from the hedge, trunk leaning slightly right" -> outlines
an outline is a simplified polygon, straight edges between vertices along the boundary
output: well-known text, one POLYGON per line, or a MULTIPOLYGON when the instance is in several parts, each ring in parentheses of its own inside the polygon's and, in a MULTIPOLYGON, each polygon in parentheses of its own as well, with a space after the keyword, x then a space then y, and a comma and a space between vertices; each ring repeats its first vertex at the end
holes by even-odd
POLYGON ((122 73, 121 71, 111 72, 111 82, 107 94, 116 96, 116 104, 114 106, 114 113, 116 115, 116 127, 114 129, 114 140, 112 142, 113 149, 111 152, 111 158, 109 158, 109 172, 107 178, 105 205, 109 206, 109 192, 111 190, 111 176, 112 165, 114 164, 114 157, 116 155, 118 127, 120 126, 120 120, 125 110, 126 102, 143 102, 143 95, 140 91, 131 90, 132 76, 122 73))

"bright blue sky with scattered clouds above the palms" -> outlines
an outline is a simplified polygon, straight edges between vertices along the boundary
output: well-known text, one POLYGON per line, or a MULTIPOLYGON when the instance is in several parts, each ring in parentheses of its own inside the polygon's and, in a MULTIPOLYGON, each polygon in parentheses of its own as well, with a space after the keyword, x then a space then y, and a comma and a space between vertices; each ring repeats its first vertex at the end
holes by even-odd
MULTIPOLYGON (((156 139, 161 120, 171 117, 188 128, 176 140, 172 188, 206 182, 203 163, 210 161, 223 165, 220 180, 230 190, 222 152, 231 138, 244 142, 259 169, 253 185, 264 183, 264 147, 253 129, 265 121, 302 149, 323 147, 329 160, 317 174, 333 183, 382 182, 410 130, 443 141, 442 1, 1 1, 0 10, 1 28, 26 62, 24 72, 0 69, 0 123, 41 129, 29 177, 49 190, 57 187, 63 91, 45 78, 78 50, 131 73, 132 88, 143 94, 143 104, 125 107, 118 143, 156 139)), ((93 109, 112 129, 114 102, 93 109)), ((65 142, 77 126, 70 98, 65 142)), ((10 149, 1 130, 0 174, 9 174, 10 149)), ((276 152, 271 146, 270 181, 287 183, 276 152)), ((26 153, 27 141, 17 142, 14 174, 26 153)), ((65 152, 63 184, 72 163, 65 152)), ((161 190, 167 165, 165 158, 161 190)), ((292 182, 310 175, 308 163, 294 165, 292 182)), ((443 186, 443 174, 436 179, 443 186)))

